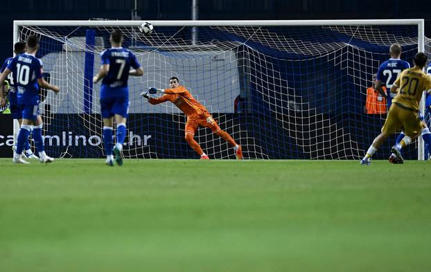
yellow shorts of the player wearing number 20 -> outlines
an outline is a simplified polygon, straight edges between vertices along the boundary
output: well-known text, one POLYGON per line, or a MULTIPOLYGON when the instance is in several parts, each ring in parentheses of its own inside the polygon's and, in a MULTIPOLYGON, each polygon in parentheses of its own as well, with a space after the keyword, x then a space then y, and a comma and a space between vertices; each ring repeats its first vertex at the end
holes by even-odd
POLYGON ((410 138, 415 138, 421 133, 423 123, 416 111, 405 109, 392 103, 385 125, 382 127, 382 132, 385 134, 394 134, 403 128, 404 134, 410 138))

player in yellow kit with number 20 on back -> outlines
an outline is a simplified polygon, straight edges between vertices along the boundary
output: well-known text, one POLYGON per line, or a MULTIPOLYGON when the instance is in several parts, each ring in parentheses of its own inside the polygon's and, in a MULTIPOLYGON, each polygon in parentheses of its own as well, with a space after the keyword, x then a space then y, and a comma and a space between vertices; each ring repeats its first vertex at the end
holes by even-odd
POLYGON ((400 130, 401 127, 404 128, 405 136, 400 143, 392 147, 391 151, 403 160, 401 149, 412 143, 412 140, 421 134, 423 124, 419 117, 419 101, 423 91, 431 93, 431 78, 422 71, 427 59, 425 53, 417 53, 413 60, 414 67, 405 69, 394 82, 391 91, 398 94, 392 100, 385 125, 382 127, 382 133, 373 140, 373 144, 367 150, 367 154, 362 158, 360 164, 369 165, 371 156, 391 134, 400 130))

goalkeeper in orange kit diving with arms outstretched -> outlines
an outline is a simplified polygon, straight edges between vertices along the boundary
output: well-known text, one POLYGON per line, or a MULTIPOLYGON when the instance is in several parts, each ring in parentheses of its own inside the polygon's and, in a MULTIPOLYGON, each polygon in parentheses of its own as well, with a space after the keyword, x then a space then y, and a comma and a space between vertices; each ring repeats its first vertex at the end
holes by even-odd
POLYGON ((187 116, 187 123, 185 129, 185 138, 188 145, 195 150, 197 154, 200 155, 201 159, 208 160, 209 157, 203 152, 199 143, 194 139, 196 129, 199 125, 202 127, 209 127, 213 133, 224 138, 227 143, 229 143, 235 150, 235 156, 238 160, 243 159, 243 151, 241 146, 238 145, 235 140, 225 131, 218 127, 217 122, 213 119, 211 114, 206 110, 206 108, 197 102, 191 93, 187 91, 184 86, 179 85, 178 78, 169 79, 170 89, 156 89, 151 87, 148 91, 141 93, 141 96, 147 98, 151 105, 157 105, 162 102, 170 101, 175 104, 179 109, 181 109, 187 116), (151 94, 164 93, 160 98, 150 98, 151 94))

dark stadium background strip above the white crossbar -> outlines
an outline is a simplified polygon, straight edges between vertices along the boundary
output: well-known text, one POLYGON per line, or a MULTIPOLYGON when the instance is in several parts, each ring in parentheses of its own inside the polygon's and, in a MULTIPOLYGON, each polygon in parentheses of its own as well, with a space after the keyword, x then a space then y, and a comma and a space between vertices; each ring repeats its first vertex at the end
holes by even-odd
MULTIPOLYGON (((431 37, 428 1, 400 0, 199 0, 199 19, 425 19, 431 37)), ((0 59, 12 53, 14 19, 131 19, 134 0, 3 0, 0 59)), ((137 0, 143 20, 191 19, 191 0, 137 0)))

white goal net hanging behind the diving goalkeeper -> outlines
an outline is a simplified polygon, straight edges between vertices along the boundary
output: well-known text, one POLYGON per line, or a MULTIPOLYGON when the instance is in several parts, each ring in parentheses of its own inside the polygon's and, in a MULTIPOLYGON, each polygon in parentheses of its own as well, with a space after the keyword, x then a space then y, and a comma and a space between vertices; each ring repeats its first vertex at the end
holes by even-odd
MULTIPOLYGON (((197 158, 184 140, 186 116, 170 102, 150 105, 139 96, 168 87, 175 76, 243 146, 245 158, 358 159, 386 118, 385 101, 371 100, 367 88, 389 46, 401 44, 410 63, 423 47, 421 20, 153 21, 148 36, 139 33, 141 23, 15 21, 15 41, 38 35, 44 77, 61 87, 58 95, 41 94, 50 156, 104 156, 100 84, 91 79, 114 29, 145 71, 129 80, 126 158, 197 158), (366 111, 376 104, 377 113, 366 111)), ((211 129, 198 129, 195 139, 210 158, 235 158, 211 129)), ((376 158, 387 158, 394 140, 376 158)), ((405 158, 420 158, 421 146, 414 142, 405 158)))

